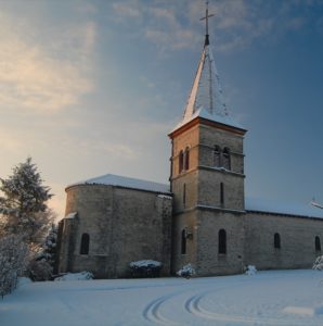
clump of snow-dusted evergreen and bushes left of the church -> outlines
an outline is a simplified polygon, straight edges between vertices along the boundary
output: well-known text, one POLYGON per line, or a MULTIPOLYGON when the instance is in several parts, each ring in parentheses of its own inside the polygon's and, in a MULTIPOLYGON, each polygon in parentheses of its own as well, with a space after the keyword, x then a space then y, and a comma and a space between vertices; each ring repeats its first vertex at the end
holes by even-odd
POLYGON ((0 296, 4 296, 23 274, 34 280, 51 278, 55 240, 49 231, 55 213, 47 205, 53 195, 30 158, 7 179, 0 178, 0 296))

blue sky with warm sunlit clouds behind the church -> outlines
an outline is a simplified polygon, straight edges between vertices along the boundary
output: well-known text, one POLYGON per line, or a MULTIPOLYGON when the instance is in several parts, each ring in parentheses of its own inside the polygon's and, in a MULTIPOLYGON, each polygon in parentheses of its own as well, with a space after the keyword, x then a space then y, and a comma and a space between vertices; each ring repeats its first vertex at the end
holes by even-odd
MULTIPOLYGON (((323 202, 323 0, 210 0, 248 197, 323 202)), ((168 133, 204 45, 203 0, 0 0, 0 177, 27 156, 55 195, 107 173, 168 183, 168 133)))

